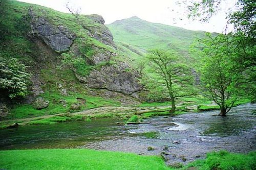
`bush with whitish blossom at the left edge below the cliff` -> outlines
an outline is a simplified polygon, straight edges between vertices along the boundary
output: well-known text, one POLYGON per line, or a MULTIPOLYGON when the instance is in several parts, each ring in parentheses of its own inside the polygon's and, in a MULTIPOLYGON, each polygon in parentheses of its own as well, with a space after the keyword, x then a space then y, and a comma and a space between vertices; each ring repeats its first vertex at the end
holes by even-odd
POLYGON ((17 59, 8 60, 0 54, 0 89, 12 99, 24 98, 28 93, 30 84, 30 74, 26 71, 26 66, 17 59))

